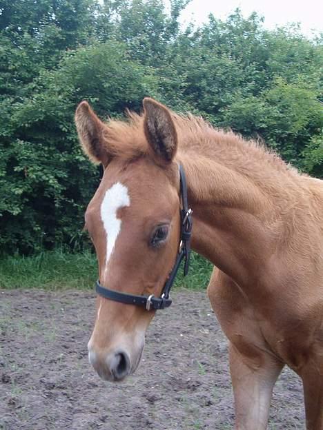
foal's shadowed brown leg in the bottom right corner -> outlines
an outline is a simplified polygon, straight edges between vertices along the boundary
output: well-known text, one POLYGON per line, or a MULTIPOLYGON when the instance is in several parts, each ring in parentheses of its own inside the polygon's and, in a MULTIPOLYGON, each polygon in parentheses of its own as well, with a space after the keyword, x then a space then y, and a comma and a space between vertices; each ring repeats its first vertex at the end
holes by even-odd
POLYGON ((307 430, 323 429, 323 362, 306 365, 300 376, 304 387, 304 402, 307 430))

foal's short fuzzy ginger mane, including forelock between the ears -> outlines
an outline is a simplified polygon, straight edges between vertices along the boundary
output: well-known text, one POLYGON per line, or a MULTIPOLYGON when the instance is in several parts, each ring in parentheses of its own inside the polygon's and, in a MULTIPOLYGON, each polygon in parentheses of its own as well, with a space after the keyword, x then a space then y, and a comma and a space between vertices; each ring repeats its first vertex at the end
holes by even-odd
MULTIPOLYGON (((144 114, 126 111, 126 115, 124 120, 108 121, 105 139, 110 153, 130 161, 146 156, 148 143, 144 134, 144 114)), ((242 170, 244 167, 248 170, 265 165, 286 174, 297 173, 297 170, 263 143, 246 140, 231 130, 217 129, 200 116, 184 116, 172 112, 172 117, 179 139, 179 156, 181 153, 192 152, 206 158, 214 158, 226 165, 234 163, 238 170, 239 164, 242 170)))

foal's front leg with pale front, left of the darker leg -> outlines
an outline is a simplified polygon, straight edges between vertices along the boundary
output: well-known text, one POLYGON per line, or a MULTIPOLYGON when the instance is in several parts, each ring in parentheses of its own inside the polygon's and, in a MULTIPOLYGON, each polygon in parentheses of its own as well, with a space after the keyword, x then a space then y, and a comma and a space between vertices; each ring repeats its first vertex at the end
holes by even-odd
POLYGON ((273 386, 282 362, 260 351, 261 365, 255 366, 234 345, 230 345, 230 371, 235 398, 235 429, 265 430, 273 386))

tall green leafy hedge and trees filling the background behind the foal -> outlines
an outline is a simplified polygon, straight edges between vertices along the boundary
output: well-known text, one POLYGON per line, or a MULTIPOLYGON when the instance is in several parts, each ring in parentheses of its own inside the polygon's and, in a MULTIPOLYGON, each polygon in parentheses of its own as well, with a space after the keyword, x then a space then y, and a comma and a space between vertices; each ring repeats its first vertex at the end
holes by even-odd
POLYGON ((83 216, 99 170, 77 142, 82 99, 105 118, 155 96, 323 177, 322 38, 265 30, 239 10, 181 30, 188 2, 171 0, 168 13, 161 0, 1 2, 1 252, 88 246, 83 216))

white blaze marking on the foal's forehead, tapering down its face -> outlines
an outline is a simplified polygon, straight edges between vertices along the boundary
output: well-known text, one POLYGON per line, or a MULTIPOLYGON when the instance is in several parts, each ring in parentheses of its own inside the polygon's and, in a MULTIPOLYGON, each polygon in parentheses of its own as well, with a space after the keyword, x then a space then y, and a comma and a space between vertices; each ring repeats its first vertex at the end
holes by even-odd
POLYGON ((108 261, 115 248, 115 241, 121 230, 121 220, 117 218, 117 211, 121 207, 130 206, 128 188, 117 182, 109 190, 101 203, 101 220, 106 230, 106 267, 104 269, 104 278, 108 261))

